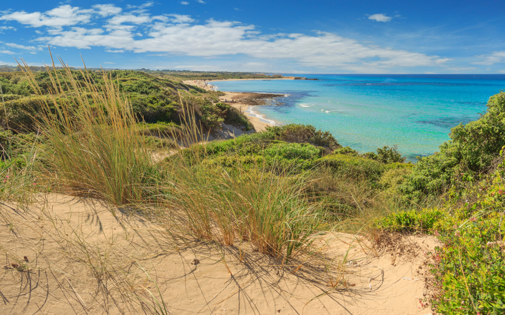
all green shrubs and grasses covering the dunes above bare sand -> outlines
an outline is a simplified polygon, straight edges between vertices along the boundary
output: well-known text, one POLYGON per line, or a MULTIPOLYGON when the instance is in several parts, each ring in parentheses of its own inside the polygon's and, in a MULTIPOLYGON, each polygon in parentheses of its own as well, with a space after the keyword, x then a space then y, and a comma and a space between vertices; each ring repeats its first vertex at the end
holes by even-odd
POLYGON ((505 311, 504 92, 413 165, 395 146, 360 154, 309 125, 196 143, 202 128, 250 127, 217 92, 138 71, 8 72, 0 83, 4 199, 45 189, 179 209, 165 218, 177 233, 247 241, 286 265, 329 230, 433 233, 436 310, 505 311), (164 145, 153 135, 185 148, 154 160, 164 145))

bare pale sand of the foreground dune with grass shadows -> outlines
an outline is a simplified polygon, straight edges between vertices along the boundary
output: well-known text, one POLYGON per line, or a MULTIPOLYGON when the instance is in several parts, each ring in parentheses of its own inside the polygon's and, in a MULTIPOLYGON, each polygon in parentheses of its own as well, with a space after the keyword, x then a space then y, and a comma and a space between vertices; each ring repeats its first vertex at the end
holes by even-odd
POLYGON ((439 245, 432 236, 397 235, 384 242, 390 247, 374 249, 366 239, 357 242, 360 236, 335 234, 324 252, 347 259, 344 268, 326 271, 310 261, 283 266, 239 240, 223 247, 183 242, 172 238, 170 224, 99 200, 38 199, 0 205, 6 266, 0 314, 140 314, 153 296, 181 315, 431 313, 420 300, 427 292, 427 253, 439 245), (328 275, 341 275, 336 287, 328 275))

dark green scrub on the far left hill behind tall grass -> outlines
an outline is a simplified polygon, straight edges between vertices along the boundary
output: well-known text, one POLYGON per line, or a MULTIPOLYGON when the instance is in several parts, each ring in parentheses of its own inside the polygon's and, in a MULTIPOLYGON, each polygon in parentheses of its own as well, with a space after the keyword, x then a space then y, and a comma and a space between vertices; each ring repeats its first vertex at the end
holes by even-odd
MULTIPOLYGON (((78 86, 84 86, 86 80, 98 87, 104 84, 104 78, 98 71, 87 71, 87 77, 79 71, 71 71, 75 74, 78 86)), ((76 97, 80 96, 70 92, 73 86, 63 73, 63 70, 56 71, 55 80, 59 80, 58 84, 62 87, 57 102, 75 103, 76 97)), ((139 122, 180 125, 184 105, 191 108, 204 129, 220 128, 222 123, 240 125, 246 130, 252 129, 242 113, 219 102, 222 92, 206 91, 178 80, 157 78, 141 71, 114 70, 107 74, 109 80, 115 81, 119 92, 129 99, 139 122)), ((0 125, 4 129, 23 132, 36 130, 32 118, 39 115, 40 102, 49 99, 48 94, 52 91, 53 82, 48 72, 34 73, 34 81, 31 86, 22 72, 0 72, 5 101, 4 110, 0 113, 0 125)), ((90 95, 86 97, 91 106, 96 105, 92 103, 90 95)))

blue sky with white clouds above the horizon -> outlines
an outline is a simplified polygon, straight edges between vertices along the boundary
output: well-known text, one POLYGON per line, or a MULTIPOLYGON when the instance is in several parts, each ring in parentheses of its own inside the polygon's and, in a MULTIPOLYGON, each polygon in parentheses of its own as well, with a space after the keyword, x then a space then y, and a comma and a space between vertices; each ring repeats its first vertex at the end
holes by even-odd
POLYGON ((2 2, 0 65, 268 73, 505 73, 505 2, 2 2))

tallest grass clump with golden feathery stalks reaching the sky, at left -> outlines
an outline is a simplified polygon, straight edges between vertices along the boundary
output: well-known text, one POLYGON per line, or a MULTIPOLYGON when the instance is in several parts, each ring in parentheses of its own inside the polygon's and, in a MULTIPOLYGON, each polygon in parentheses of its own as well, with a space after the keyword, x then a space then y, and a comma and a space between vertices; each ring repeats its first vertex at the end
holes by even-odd
MULTIPOLYGON (((39 104, 34 117, 49 144, 44 152, 49 169, 70 189, 113 204, 145 200, 153 162, 128 100, 105 72, 103 85, 97 86, 86 70, 72 71, 60 62, 63 70, 53 62, 48 71, 51 97, 39 104), (73 103, 63 101, 69 96, 73 103)), ((26 63, 22 69, 41 95, 26 63)))

